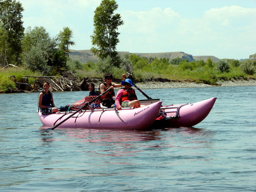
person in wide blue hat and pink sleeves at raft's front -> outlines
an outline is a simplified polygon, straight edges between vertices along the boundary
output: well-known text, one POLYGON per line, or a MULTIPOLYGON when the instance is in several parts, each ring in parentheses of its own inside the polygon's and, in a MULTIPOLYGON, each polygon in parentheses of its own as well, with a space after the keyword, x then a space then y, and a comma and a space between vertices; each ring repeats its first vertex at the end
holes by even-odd
POLYGON ((134 86, 132 80, 126 79, 121 83, 124 85, 124 88, 118 90, 116 94, 116 108, 120 110, 122 107, 140 107, 140 102, 135 94, 135 90, 131 88, 134 86))

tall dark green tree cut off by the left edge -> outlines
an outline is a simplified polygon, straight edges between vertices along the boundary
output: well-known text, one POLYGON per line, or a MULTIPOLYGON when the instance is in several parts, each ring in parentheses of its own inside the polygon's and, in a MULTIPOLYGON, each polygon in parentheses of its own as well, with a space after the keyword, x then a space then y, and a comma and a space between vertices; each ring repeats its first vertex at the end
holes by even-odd
POLYGON ((24 33, 22 4, 16 0, 0 0, 0 66, 20 64, 21 40, 24 33))

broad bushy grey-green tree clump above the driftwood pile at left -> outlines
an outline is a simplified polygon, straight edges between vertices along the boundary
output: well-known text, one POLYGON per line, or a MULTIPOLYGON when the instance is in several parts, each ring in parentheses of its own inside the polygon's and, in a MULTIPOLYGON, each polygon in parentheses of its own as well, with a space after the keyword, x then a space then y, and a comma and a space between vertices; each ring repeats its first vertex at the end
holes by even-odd
POLYGON ((62 74, 68 68, 64 50, 58 49, 57 39, 51 38, 44 27, 28 28, 22 40, 24 66, 44 75, 62 74))

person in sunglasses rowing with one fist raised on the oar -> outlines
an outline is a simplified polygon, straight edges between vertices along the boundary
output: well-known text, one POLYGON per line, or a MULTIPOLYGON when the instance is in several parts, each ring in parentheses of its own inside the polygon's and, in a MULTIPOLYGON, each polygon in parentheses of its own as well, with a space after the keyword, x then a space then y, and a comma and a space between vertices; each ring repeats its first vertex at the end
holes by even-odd
MULTIPOLYGON (((125 80, 125 78, 126 78, 126 75, 123 74, 122 80, 125 80)), ((114 87, 122 87, 123 86, 121 83, 120 84, 113 83, 112 80, 113 80, 112 74, 106 74, 105 82, 102 82, 99 86, 99 90, 100 90, 101 94, 103 92, 105 92, 106 90, 110 90, 101 96, 102 105, 106 106, 108 108, 113 107, 113 105, 115 104, 115 100, 113 99, 113 97, 115 96, 114 87)))

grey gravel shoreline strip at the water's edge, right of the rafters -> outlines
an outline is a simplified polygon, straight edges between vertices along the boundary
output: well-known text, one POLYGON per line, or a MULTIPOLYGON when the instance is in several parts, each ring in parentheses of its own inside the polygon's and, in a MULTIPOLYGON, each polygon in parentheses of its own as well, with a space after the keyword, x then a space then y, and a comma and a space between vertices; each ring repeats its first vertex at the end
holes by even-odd
POLYGON ((161 88, 191 88, 191 87, 230 87, 230 86, 256 86, 256 80, 230 80, 219 81, 219 85, 208 85, 195 82, 146 82, 136 83, 140 89, 161 89, 161 88))

